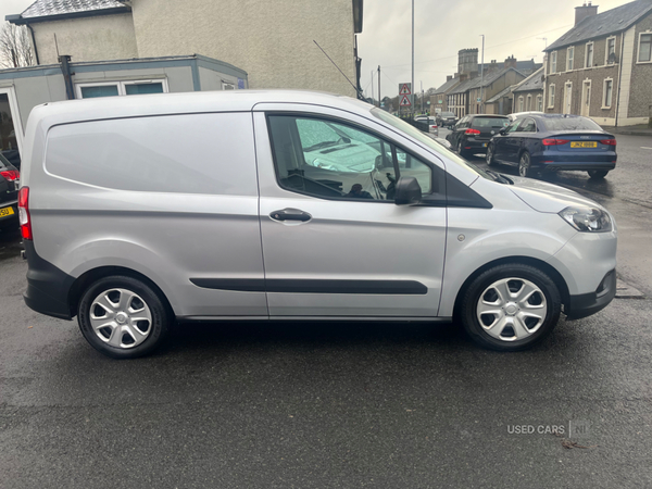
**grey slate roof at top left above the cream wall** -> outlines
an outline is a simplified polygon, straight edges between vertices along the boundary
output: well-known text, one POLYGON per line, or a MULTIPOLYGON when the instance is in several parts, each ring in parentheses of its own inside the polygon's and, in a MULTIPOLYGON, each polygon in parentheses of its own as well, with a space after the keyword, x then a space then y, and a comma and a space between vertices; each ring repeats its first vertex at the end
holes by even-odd
POLYGON ((129 11, 130 9, 118 0, 36 0, 22 14, 8 15, 7 20, 14 24, 27 24, 129 11))

